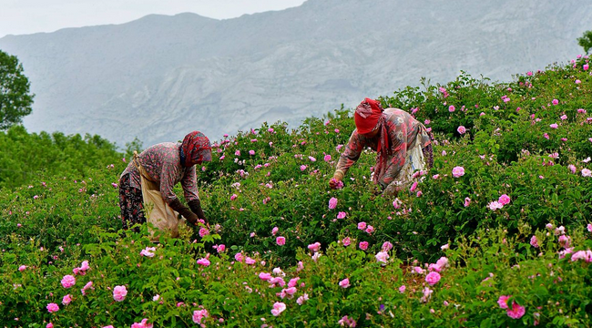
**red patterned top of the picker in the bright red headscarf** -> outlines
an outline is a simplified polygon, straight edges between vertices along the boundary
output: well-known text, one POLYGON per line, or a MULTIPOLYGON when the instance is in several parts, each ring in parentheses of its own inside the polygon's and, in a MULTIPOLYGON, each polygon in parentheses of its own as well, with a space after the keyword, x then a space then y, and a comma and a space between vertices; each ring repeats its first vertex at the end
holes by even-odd
POLYGON ((353 130, 350 141, 337 163, 337 169, 345 174, 360 158, 362 149, 370 147, 378 151, 373 180, 384 189, 393 180, 399 178, 399 173, 405 164, 407 150, 412 149, 416 142, 420 142, 424 149, 432 141, 424 125, 401 109, 385 109, 379 124, 381 131, 374 138, 362 136, 357 128, 353 130))

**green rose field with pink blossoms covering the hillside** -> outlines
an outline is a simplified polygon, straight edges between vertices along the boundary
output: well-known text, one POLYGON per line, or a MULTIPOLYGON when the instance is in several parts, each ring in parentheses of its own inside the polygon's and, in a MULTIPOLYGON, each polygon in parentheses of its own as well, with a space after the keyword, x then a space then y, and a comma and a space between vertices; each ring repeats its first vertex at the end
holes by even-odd
POLYGON ((396 198, 373 185, 372 151, 329 188, 351 109, 216 140, 198 168, 209 229, 158 243, 121 229, 130 149, 11 128, 0 165, 35 174, 0 179, 0 323, 592 326, 587 62, 381 97, 434 133, 434 168, 396 198))

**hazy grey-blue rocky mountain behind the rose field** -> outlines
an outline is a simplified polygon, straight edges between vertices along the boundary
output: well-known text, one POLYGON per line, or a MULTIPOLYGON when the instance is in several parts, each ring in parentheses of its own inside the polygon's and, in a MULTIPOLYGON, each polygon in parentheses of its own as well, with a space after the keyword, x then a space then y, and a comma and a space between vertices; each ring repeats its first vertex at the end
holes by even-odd
POLYGON ((122 25, 5 36, 36 93, 30 131, 123 145, 212 139, 301 119, 460 70, 494 80, 581 53, 592 4, 540 0, 308 0, 216 20, 148 15, 122 25))

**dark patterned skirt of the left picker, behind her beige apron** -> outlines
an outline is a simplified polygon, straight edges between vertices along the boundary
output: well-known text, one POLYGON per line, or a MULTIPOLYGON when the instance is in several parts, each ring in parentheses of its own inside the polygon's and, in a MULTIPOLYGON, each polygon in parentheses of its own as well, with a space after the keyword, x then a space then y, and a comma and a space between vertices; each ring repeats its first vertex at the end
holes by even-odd
POLYGON ((128 230, 129 227, 136 223, 142 224, 146 222, 143 202, 142 190, 129 185, 129 174, 121 176, 119 179, 119 207, 121 208, 123 229, 128 230))

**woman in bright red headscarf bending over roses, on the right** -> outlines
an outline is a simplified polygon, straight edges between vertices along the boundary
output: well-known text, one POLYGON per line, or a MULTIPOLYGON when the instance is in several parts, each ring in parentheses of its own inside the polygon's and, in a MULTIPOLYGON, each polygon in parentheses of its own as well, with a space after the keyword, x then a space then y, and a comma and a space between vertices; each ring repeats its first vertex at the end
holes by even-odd
POLYGON ((356 129, 342 153, 333 178, 332 189, 352 164, 360 158, 362 149, 377 152, 373 167, 373 181, 384 195, 395 195, 405 189, 413 173, 430 169, 434 164, 432 141, 424 125, 409 113, 397 109, 383 109, 380 102, 365 98, 353 114, 356 129))

